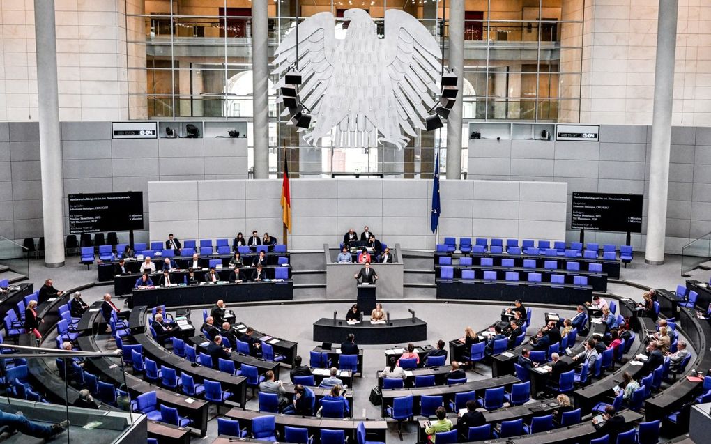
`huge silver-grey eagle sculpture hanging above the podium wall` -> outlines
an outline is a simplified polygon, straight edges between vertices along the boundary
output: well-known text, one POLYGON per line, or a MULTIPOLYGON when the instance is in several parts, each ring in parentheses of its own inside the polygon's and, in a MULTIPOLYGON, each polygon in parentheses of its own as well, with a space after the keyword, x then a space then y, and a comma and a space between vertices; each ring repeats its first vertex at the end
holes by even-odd
MULTIPOLYGON (((346 38, 337 39, 330 12, 299 23, 299 87, 301 104, 311 124, 303 139, 314 146, 324 136, 333 146, 371 148, 387 142, 403 148, 426 130, 425 119, 435 106, 441 81, 442 51, 427 28, 409 13, 385 12, 385 38, 362 9, 348 9, 346 38)), ((296 66, 296 31, 277 48, 274 74, 296 66)), ((284 114, 289 114, 289 109, 284 114)))

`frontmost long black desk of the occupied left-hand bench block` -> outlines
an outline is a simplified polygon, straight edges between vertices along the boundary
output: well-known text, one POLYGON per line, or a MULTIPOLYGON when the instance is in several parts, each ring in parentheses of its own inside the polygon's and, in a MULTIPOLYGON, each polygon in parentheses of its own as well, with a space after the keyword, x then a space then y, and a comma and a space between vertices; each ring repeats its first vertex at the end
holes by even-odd
POLYGON ((166 305, 180 307, 186 305, 213 305, 222 299, 225 303, 253 302, 256 300, 291 300, 294 298, 294 283, 242 282, 205 283, 204 285, 176 286, 168 288, 145 288, 133 291, 133 305, 166 305))

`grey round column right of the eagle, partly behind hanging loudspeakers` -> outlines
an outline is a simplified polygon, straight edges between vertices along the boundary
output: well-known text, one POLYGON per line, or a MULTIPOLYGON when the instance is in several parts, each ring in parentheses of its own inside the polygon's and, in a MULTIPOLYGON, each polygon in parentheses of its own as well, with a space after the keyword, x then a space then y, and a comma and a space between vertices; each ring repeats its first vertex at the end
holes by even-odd
MULTIPOLYGON (((449 67, 454 68, 459 92, 447 118, 447 179, 461 179, 461 112, 464 78, 464 0, 449 3, 449 67)), ((444 57, 444 54, 442 54, 444 57)))

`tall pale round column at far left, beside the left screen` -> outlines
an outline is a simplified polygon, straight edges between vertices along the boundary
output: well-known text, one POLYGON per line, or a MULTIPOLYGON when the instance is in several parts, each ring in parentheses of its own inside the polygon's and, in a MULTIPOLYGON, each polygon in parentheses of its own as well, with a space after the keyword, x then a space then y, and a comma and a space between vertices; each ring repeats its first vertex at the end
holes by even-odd
POLYGON ((35 39, 45 266, 58 267, 64 266, 64 187, 54 0, 35 0, 35 39))

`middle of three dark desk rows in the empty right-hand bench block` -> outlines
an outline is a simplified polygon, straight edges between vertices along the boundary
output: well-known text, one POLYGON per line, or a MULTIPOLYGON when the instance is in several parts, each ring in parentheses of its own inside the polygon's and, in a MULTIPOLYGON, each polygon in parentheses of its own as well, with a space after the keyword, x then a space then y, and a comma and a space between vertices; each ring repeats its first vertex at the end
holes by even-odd
MULTIPOLYGON (((435 265, 434 266, 434 276, 436 278, 442 278, 442 267, 446 265, 435 265)), ((496 279, 498 281, 503 281, 506 279, 506 272, 514 271, 518 273, 518 277, 521 281, 528 280, 529 273, 538 273, 541 275, 543 282, 550 282, 550 276, 558 274, 563 276, 565 283, 573 283, 574 276, 585 276, 587 278, 587 283, 592 286, 593 291, 607 291, 607 274, 605 273, 592 273, 591 271, 574 271, 566 269, 527 269, 522 266, 505 267, 505 266, 466 266, 466 265, 454 265, 454 278, 461 279, 461 272, 464 270, 474 271, 474 278, 483 279, 484 271, 496 271, 496 279)))

